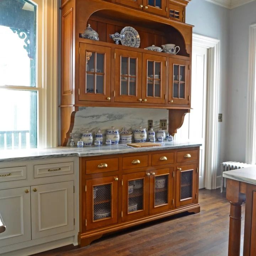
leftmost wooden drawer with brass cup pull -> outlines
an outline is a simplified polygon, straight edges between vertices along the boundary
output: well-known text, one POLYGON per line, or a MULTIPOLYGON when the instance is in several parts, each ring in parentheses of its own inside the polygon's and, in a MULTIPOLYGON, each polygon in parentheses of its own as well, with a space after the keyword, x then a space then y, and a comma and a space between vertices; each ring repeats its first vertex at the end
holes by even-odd
POLYGON ((86 174, 118 171, 118 158, 97 159, 86 161, 86 174))

